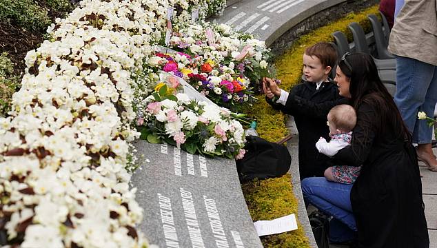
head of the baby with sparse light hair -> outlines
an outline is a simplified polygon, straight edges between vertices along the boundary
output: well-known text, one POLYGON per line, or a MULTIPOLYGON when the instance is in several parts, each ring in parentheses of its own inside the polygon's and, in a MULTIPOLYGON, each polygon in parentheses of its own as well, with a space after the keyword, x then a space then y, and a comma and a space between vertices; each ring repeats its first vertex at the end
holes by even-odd
POLYGON ((356 112, 351 105, 341 104, 332 107, 327 118, 338 130, 345 132, 351 132, 356 125, 356 112))

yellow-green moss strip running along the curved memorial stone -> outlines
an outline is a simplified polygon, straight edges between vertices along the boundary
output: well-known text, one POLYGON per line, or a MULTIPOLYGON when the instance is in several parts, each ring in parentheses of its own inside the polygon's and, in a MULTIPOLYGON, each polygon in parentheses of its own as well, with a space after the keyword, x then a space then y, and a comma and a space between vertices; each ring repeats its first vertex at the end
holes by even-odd
MULTIPOLYGON (((292 47, 276 59, 278 79, 282 81, 280 87, 290 90, 300 81, 303 68, 302 56, 309 45, 320 41, 333 41, 331 33, 337 30, 344 32, 349 41, 352 41, 352 34, 347 24, 356 21, 363 26, 365 32, 369 32, 371 25, 367 20, 367 14, 371 13, 378 15, 378 6, 368 8, 363 12, 348 14, 294 41, 292 47)), ((256 98, 260 100, 252 107, 249 114, 258 122, 258 134, 268 141, 280 140, 288 133, 284 115, 273 110, 265 101, 264 96, 256 96, 256 98)), ((288 174, 281 178, 246 183, 242 185, 242 188, 254 220, 271 220, 298 212, 297 200, 293 194, 288 174)), ((303 228, 300 224, 298 225, 299 229, 296 231, 263 236, 261 241, 264 247, 309 247, 303 228)))

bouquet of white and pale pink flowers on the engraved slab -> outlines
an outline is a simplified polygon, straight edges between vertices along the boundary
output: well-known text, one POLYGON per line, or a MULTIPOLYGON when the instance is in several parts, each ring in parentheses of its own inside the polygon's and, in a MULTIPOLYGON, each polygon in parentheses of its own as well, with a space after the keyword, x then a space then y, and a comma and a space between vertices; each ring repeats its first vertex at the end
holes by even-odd
POLYGON ((244 155, 244 130, 231 112, 172 92, 164 84, 143 101, 136 121, 140 138, 150 143, 165 141, 191 154, 227 158, 244 155))

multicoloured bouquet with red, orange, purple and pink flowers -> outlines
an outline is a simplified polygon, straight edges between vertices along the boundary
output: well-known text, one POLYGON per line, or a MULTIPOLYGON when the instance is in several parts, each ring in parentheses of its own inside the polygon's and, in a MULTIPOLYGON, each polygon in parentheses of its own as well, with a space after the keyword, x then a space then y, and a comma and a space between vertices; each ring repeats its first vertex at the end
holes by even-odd
POLYGON ((243 110, 254 101, 249 80, 212 59, 203 61, 203 56, 199 55, 158 52, 150 57, 148 65, 181 77, 217 105, 234 112, 243 110))

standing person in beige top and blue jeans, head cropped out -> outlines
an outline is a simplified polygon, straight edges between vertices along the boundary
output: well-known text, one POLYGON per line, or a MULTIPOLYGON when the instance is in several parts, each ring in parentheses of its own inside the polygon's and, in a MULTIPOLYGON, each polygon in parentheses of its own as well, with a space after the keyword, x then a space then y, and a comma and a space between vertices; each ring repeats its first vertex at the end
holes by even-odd
POLYGON ((437 0, 405 0, 403 6, 402 2, 396 1, 398 14, 388 47, 396 55, 394 101, 418 144, 418 158, 437 172, 432 128, 417 118, 419 111, 434 116, 437 103, 437 0))

